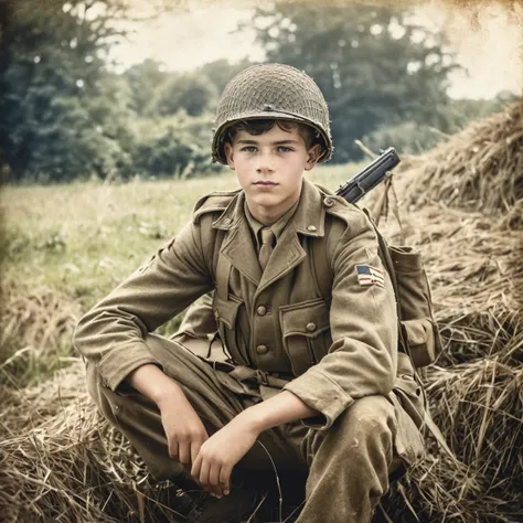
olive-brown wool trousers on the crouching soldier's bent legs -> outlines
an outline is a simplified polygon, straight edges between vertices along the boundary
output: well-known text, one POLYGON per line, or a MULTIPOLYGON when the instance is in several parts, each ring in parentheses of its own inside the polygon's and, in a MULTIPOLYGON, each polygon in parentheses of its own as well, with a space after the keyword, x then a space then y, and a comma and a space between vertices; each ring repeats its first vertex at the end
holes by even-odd
MULTIPOLYGON (((146 342, 210 435, 262 401, 256 391, 246 393, 243 384, 179 343, 156 335, 146 342)), ((88 365, 87 372, 89 391, 103 414, 130 440, 154 478, 175 482, 183 467, 169 457, 156 404, 131 388, 115 393, 103 386, 94 366, 88 365)), ((394 446, 397 426, 393 404, 384 396, 367 396, 327 430, 300 421, 266 430, 236 467, 253 473, 309 470, 299 523, 365 523, 399 465, 394 446)))

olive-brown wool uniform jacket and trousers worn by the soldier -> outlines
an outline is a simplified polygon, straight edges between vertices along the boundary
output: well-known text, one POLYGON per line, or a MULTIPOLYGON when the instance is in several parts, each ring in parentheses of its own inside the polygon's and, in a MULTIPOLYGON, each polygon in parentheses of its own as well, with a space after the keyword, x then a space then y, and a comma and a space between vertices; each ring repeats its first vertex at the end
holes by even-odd
POLYGON ((181 466, 169 458, 156 405, 124 382, 138 366, 157 364, 175 380, 210 434, 290 391, 321 415, 263 433, 237 467, 271 470, 273 459, 278 470, 309 468, 299 522, 370 521, 398 458, 408 465, 423 451, 419 420, 402 407, 407 398, 421 412, 421 396, 397 353, 374 230, 357 207, 303 180, 298 204, 271 227, 276 245, 262 270, 253 220, 242 191, 202 199, 174 239, 82 319, 75 345, 89 391, 157 478, 181 466), (312 256, 325 231, 330 297, 312 256), (150 334, 211 290, 228 362, 150 334))

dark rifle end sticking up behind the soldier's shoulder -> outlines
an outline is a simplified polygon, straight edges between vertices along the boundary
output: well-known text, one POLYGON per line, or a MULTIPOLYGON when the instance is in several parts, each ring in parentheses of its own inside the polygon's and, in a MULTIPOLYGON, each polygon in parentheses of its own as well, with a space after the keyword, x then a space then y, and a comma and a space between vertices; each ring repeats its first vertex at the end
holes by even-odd
POLYGON ((383 180, 392 174, 392 170, 401 162, 394 147, 389 147, 369 166, 355 174, 335 192, 338 196, 344 198, 350 203, 356 203, 369 191, 372 191, 383 180))

